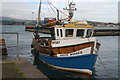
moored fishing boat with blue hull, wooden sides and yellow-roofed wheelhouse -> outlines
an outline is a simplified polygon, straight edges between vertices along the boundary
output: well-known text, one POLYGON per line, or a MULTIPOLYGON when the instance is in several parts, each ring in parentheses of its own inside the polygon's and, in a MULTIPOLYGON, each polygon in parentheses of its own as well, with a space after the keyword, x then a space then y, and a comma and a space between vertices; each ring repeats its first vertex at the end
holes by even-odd
POLYGON ((93 26, 87 22, 71 22, 73 11, 77 10, 74 5, 70 2, 69 8, 64 8, 69 12, 67 18, 45 18, 44 24, 40 25, 40 2, 38 24, 31 45, 33 55, 51 67, 92 75, 100 43, 93 37, 93 26), (50 37, 38 33, 43 28, 50 30, 50 37))

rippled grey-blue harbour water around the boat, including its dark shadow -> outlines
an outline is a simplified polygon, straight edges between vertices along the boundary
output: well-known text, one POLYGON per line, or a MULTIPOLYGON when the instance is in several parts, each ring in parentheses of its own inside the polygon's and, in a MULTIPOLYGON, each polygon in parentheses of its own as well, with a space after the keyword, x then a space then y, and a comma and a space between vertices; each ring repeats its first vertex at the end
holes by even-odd
MULTIPOLYGON (((32 43, 32 32, 24 31, 25 26, 11 26, 4 25, 2 27, 3 32, 18 32, 19 33, 19 51, 20 57, 27 58, 31 63, 34 64, 40 71, 42 71, 49 78, 83 78, 84 76, 79 73, 67 72, 51 68, 46 64, 42 63, 40 60, 33 58, 31 54, 30 45, 32 43)), ((41 34, 43 36, 45 34, 41 34)), ((16 45, 16 35, 5 34, 3 35, 6 39, 7 46, 16 45)), ((47 35, 46 35, 47 36, 47 35)), ((118 78, 118 37, 117 36, 105 36, 98 37, 99 42, 101 43, 101 48, 99 51, 99 56, 105 64, 107 70, 111 74, 112 78, 118 78)), ((8 55, 10 57, 16 57, 16 48, 9 48, 8 55)), ((94 78, 108 78, 105 69, 97 59, 94 78)))

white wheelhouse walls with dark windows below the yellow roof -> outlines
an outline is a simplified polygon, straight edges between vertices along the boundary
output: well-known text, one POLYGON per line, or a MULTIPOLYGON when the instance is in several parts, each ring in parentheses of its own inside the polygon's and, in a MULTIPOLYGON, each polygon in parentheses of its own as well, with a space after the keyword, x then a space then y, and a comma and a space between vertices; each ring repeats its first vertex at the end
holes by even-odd
POLYGON ((55 28, 55 39, 85 38, 92 37, 91 28, 55 28))

